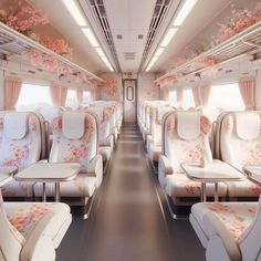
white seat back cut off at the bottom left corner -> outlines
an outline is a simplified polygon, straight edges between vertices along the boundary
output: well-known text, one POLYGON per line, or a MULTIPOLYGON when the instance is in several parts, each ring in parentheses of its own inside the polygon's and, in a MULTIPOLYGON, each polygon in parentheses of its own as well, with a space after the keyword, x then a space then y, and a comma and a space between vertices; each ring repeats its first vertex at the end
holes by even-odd
POLYGON ((0 189, 0 260, 20 260, 19 255, 24 243, 23 236, 9 222, 0 189))

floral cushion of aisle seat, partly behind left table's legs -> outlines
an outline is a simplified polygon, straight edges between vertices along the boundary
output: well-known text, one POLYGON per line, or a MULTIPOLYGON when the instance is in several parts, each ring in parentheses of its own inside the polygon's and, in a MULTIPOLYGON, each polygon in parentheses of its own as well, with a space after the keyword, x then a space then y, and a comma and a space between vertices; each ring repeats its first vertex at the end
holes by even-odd
MULTIPOLYGON (((72 181, 60 184, 61 197, 92 197, 95 190, 95 177, 87 177, 86 174, 79 174, 72 181)), ((42 184, 34 186, 34 194, 36 197, 42 196, 42 184)), ((54 184, 46 184, 46 195, 54 196, 54 184)))

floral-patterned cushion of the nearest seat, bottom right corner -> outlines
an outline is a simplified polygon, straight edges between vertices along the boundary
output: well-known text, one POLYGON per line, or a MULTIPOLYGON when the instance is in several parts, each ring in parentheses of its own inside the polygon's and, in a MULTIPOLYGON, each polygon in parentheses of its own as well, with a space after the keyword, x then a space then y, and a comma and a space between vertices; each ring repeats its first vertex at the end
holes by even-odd
POLYGON ((208 237, 209 230, 203 223, 203 217, 207 211, 213 211, 222 220, 222 222, 230 231, 234 240, 238 240, 241 233, 253 221, 257 206, 257 202, 195 203, 191 208, 191 215, 206 234, 206 237, 208 237))

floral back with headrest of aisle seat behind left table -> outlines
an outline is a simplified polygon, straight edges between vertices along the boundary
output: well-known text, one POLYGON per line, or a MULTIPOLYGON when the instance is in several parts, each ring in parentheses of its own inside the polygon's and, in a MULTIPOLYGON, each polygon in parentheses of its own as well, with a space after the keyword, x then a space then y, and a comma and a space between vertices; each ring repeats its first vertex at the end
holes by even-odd
POLYGON ((80 163, 86 171, 97 155, 98 127, 95 116, 87 112, 63 112, 53 119, 51 163, 80 163))

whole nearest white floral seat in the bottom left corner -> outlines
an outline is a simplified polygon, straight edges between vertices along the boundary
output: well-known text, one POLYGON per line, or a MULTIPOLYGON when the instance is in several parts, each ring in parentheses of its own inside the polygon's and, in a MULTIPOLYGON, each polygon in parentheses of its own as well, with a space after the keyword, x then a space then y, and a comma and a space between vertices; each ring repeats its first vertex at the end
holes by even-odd
POLYGON ((0 191, 0 260, 54 261, 71 221, 65 203, 2 202, 0 191))

